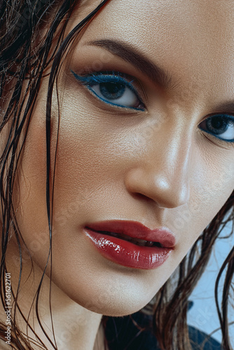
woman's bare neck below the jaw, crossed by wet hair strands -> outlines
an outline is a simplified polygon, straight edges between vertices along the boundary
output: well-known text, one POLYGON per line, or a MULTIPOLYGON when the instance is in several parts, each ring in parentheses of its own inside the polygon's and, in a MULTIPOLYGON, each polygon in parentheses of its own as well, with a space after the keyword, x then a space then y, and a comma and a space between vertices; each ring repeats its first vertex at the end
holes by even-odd
MULTIPOLYGON (((9 247, 10 248, 10 247, 9 247)), ((6 256, 6 267, 11 273, 11 288, 14 293, 17 290, 19 279, 19 260, 18 248, 11 244, 11 253, 6 256)), ((18 304, 22 314, 29 316, 29 325, 32 325, 36 335, 47 346, 48 349, 55 349, 48 341, 44 334, 39 320, 36 317, 36 300, 35 295, 38 290, 42 270, 34 263, 34 270, 31 272, 31 260, 24 255, 22 260, 22 278, 20 283, 20 292, 18 294, 18 304)), ((45 274, 43 283, 39 293, 39 318, 44 330, 53 341, 56 341, 58 350, 102 350, 104 349, 104 335, 101 326, 102 315, 85 309, 80 304, 71 300, 55 283, 50 283, 50 278, 45 274), (50 301, 49 301, 50 300, 50 301), (51 321, 51 314, 53 323, 51 321), (53 337, 55 334, 55 341, 53 337)), ((11 298, 13 298, 11 296, 11 298)), ((11 299, 13 302, 13 299, 11 299)), ((5 323, 6 313, 1 307, 0 318, 5 323)), ((27 323, 23 320, 19 311, 16 311, 16 320, 22 332, 27 333, 27 323)), ((36 336, 32 330, 28 330, 29 337, 36 340, 36 336)), ((32 345, 34 349, 39 349, 36 345, 32 345)), ((41 348, 40 348, 41 349, 41 348)))

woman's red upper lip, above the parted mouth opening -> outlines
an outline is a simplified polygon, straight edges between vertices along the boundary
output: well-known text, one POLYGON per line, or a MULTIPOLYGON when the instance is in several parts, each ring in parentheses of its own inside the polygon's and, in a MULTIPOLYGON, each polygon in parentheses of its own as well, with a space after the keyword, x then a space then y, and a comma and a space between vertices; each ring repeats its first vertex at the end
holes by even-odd
POLYGON ((168 228, 162 227, 151 230, 138 221, 99 221, 88 223, 85 227, 95 231, 115 232, 133 239, 159 242, 165 248, 174 248, 176 242, 173 232, 168 228))

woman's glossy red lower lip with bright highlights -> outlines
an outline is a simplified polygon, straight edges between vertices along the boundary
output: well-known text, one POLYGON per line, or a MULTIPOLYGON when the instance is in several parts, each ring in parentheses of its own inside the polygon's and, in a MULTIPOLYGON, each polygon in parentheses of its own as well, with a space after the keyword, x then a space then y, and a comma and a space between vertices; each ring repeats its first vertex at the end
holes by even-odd
POLYGON ((130 241, 85 228, 85 235, 105 258, 137 269, 156 269, 167 260, 172 248, 137 246, 130 241))

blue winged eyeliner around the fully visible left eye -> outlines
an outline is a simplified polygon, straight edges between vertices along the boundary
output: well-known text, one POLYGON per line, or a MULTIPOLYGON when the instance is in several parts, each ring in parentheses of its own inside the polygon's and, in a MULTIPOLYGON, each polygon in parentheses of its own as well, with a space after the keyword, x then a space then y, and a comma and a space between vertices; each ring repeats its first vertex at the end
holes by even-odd
MULTIPOLYGON (((135 108, 135 107, 131 107, 131 106, 124 106, 121 104, 114 104, 111 103, 109 101, 107 101, 106 99, 100 97, 97 92, 95 92, 92 89, 92 86, 94 85, 98 85, 100 83, 118 83, 118 84, 122 84, 125 87, 128 87, 130 90, 132 90, 132 92, 134 92, 134 94, 137 96, 137 99, 139 99, 138 93, 135 90, 135 88, 132 86, 132 81, 128 81, 126 80, 125 74, 119 73, 119 72, 99 72, 99 73, 90 73, 90 74, 86 74, 85 76, 79 76, 78 74, 76 74, 74 71, 71 70, 71 73, 74 75, 74 77, 76 78, 76 80, 78 80, 81 84, 85 85, 88 90, 90 90, 92 92, 92 94, 95 94, 95 96, 100 99, 102 102, 104 102, 105 104, 109 104, 111 106, 118 106, 121 108, 125 108, 125 109, 133 109, 135 111, 144 111, 144 108, 135 108), (123 76, 122 76, 123 75, 123 76)), ((143 104, 141 99, 139 99, 139 103, 143 104)))

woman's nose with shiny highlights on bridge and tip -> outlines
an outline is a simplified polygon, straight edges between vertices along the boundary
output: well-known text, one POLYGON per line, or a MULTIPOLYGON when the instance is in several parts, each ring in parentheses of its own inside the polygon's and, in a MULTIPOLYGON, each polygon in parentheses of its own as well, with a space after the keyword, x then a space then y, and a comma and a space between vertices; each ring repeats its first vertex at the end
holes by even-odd
POLYGON ((160 208, 175 208, 190 197, 192 142, 188 133, 166 134, 157 132, 146 140, 144 153, 125 176, 125 186, 160 208))

